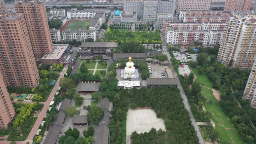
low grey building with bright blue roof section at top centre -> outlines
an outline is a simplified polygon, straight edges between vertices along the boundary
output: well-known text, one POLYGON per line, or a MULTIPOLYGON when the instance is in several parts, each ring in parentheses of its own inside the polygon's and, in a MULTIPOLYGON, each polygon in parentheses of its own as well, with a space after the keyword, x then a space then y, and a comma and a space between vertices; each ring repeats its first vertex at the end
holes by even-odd
POLYGON ((113 15, 114 22, 137 22, 136 12, 121 12, 120 10, 115 10, 113 15))

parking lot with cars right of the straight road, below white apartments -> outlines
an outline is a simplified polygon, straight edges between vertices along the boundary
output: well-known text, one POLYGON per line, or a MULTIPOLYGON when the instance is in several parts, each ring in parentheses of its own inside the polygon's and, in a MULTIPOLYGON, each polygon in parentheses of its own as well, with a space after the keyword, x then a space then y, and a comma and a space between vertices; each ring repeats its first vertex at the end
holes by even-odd
POLYGON ((181 62, 196 61, 197 54, 189 54, 186 52, 173 52, 175 58, 181 62))

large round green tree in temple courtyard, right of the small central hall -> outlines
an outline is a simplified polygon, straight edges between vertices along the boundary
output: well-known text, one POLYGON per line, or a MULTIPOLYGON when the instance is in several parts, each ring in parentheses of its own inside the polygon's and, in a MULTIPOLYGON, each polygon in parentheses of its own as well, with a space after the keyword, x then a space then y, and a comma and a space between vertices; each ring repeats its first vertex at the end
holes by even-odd
POLYGON ((104 110, 96 105, 91 105, 90 111, 87 114, 88 119, 94 123, 94 125, 97 125, 103 117, 104 110))

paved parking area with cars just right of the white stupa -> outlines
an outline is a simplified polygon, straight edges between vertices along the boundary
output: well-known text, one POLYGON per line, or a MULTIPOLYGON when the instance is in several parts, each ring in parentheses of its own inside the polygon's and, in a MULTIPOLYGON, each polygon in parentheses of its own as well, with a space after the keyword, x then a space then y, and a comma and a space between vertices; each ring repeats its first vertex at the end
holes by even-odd
POLYGON ((152 64, 148 64, 148 66, 150 66, 152 70, 152 73, 149 76, 150 78, 167 78, 164 67, 152 64))

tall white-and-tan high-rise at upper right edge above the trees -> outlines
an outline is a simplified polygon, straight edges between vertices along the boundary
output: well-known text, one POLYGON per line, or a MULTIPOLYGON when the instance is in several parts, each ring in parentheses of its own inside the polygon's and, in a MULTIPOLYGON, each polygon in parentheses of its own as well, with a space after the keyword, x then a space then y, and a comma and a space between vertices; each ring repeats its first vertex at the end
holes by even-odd
POLYGON ((252 69, 256 58, 255 24, 255 16, 229 16, 217 60, 226 66, 252 69))

